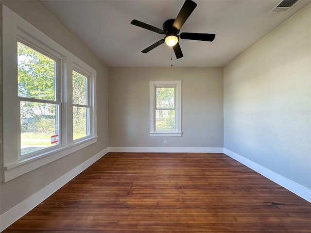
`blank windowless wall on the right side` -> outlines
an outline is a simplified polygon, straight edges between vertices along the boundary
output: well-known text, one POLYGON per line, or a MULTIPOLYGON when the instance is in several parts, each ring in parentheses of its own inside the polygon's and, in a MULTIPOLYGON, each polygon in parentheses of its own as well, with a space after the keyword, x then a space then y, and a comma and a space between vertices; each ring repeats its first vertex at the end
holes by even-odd
POLYGON ((224 67, 224 148, 311 189, 311 4, 224 67))

